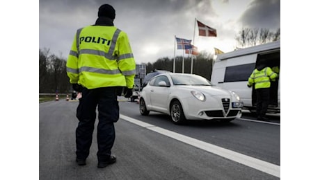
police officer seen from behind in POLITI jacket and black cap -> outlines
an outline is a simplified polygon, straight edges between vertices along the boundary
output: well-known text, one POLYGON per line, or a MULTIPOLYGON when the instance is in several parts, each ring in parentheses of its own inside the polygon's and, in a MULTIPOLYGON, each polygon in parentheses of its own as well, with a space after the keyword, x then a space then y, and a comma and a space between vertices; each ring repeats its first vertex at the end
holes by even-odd
POLYGON ((115 163, 111 154, 115 122, 119 119, 117 96, 132 95, 136 62, 127 34, 113 26, 115 10, 109 4, 99 7, 92 26, 79 28, 67 59, 67 75, 74 91, 82 92, 77 107, 77 163, 86 165, 93 138, 96 109, 98 168, 115 163), (123 92, 123 93, 122 93, 123 92))

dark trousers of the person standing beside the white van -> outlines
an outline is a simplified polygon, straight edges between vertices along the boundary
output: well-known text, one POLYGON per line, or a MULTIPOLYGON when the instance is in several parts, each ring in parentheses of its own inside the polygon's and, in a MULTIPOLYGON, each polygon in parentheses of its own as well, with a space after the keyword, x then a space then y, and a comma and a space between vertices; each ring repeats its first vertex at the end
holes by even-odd
POLYGON ((258 118, 263 118, 266 116, 266 110, 269 105, 270 89, 260 88, 255 89, 255 91, 257 94, 257 116, 258 118))

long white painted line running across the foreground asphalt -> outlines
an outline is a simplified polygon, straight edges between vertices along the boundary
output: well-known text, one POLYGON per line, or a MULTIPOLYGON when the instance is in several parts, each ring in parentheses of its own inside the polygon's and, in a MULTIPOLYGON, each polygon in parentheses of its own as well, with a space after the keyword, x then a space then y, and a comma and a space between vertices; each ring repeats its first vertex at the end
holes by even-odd
POLYGON ((253 158, 251 156, 247 156, 238 152, 234 152, 232 150, 227 150, 223 147, 219 147, 217 145, 212 145, 210 143, 206 143, 204 141, 199 141, 198 139, 191 138, 189 136, 184 136, 182 134, 177 134, 176 132, 171 132, 167 129, 163 129, 161 127, 157 127, 154 125, 150 125, 148 123, 144 123, 141 120, 137 120, 134 118, 130 118, 128 116, 124 116, 120 114, 120 118, 123 120, 127 120, 130 123, 134 123, 141 127, 145 127, 146 129, 150 129, 154 132, 158 132, 159 134, 163 134, 170 138, 174 138, 177 141, 181 141, 183 143, 193 145, 194 147, 198 147, 207 152, 211 152, 213 154, 217 154, 218 156, 222 156, 226 159, 230 159, 232 161, 236 161, 237 163, 241 163, 243 165, 247 165, 250 168, 255 168, 256 170, 260 170, 262 172, 266 172, 267 174, 271 174, 275 177, 280 178, 280 165, 275 165, 273 163, 269 163, 266 161, 262 161, 260 159, 253 158))

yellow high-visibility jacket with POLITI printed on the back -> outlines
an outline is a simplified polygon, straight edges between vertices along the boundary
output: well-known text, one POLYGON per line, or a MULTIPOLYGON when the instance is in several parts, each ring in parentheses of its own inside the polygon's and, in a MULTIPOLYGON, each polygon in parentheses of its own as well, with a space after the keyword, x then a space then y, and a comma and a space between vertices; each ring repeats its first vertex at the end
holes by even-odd
POLYGON ((88 89, 134 87, 136 62, 127 33, 115 26, 77 30, 67 59, 70 83, 88 89))

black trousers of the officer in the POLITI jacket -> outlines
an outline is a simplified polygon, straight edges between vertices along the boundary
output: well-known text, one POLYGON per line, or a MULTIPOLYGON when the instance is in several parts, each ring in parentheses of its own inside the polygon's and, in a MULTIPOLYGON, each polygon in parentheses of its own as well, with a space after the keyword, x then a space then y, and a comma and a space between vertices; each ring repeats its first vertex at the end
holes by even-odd
POLYGON ((77 159, 89 156, 95 128, 96 110, 99 123, 97 125, 98 161, 107 161, 115 141, 115 122, 119 119, 119 104, 117 87, 103 87, 97 89, 83 88, 82 98, 77 107, 79 120, 76 129, 77 159))

